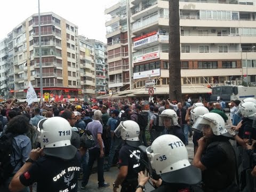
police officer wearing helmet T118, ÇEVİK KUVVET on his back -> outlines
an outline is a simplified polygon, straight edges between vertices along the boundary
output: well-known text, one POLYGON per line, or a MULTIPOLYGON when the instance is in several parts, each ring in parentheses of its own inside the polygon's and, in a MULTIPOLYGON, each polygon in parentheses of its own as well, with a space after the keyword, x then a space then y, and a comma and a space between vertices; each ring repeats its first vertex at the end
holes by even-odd
POLYGON ((29 158, 14 175, 9 189, 20 191, 37 182, 37 191, 77 191, 81 162, 71 145, 71 127, 62 117, 39 121, 41 147, 31 150, 29 158), (41 158, 39 158, 41 156, 41 158))

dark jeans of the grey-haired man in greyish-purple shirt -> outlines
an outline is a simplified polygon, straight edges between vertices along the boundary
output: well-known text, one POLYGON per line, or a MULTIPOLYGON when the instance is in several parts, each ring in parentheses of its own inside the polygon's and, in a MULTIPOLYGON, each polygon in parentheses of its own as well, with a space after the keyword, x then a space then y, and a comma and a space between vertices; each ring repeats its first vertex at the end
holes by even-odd
POLYGON ((103 163, 104 163, 104 157, 100 157, 100 148, 93 148, 93 149, 89 149, 89 162, 88 162, 88 166, 85 167, 85 171, 84 171, 84 177, 83 177, 83 181, 82 181, 82 185, 86 186, 90 175, 91 175, 91 171, 92 171, 92 166, 93 163, 95 161, 95 159, 97 159, 97 168, 98 168, 98 185, 103 185, 103 183, 105 182, 104 177, 103 177, 103 163))

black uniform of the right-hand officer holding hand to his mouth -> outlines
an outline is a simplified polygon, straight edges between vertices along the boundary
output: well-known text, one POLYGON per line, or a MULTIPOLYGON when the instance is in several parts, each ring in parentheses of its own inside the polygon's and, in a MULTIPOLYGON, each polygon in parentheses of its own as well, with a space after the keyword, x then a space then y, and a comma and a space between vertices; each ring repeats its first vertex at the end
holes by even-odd
POLYGON ((204 191, 218 191, 233 186, 236 159, 229 138, 214 135, 206 145, 201 158, 201 163, 206 167, 202 172, 204 191))

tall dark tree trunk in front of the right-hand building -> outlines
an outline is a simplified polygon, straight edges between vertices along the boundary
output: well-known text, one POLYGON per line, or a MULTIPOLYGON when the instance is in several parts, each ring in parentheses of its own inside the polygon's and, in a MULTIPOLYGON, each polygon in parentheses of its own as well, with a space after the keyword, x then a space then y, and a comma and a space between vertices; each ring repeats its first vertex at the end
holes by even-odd
POLYGON ((169 98, 181 101, 179 0, 169 0, 169 98))

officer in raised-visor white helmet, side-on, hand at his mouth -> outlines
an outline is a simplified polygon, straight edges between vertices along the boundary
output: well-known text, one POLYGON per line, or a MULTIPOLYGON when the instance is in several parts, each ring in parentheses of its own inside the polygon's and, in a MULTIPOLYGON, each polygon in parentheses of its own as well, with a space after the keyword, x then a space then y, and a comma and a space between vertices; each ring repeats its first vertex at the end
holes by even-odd
POLYGON ((224 119, 219 114, 207 113, 199 116, 192 128, 202 131, 204 136, 198 140, 193 160, 202 170, 203 190, 236 191, 236 157, 224 119))

